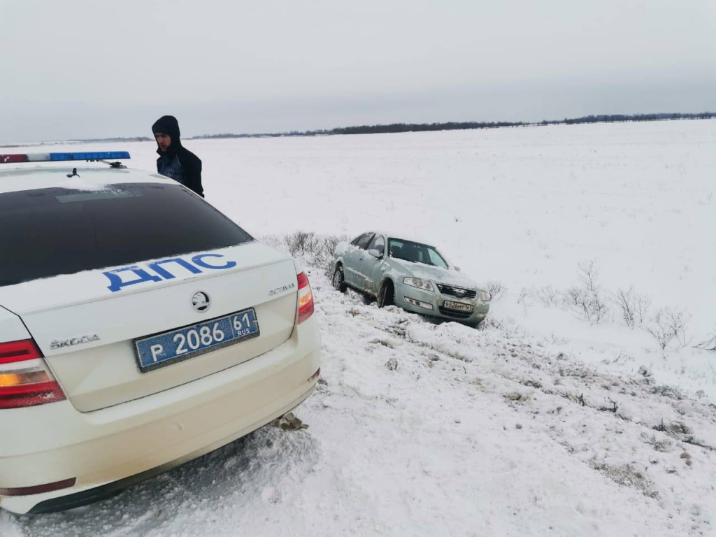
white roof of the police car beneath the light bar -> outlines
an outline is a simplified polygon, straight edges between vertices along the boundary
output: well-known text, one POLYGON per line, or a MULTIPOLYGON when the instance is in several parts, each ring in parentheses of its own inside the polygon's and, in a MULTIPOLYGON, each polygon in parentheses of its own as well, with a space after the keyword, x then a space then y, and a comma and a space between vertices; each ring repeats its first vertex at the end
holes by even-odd
POLYGON ((72 164, 62 166, 33 166, 28 168, 0 169, 0 194, 37 190, 39 188, 68 188, 72 190, 102 190, 107 185, 120 183, 174 183, 174 180, 130 168, 85 167, 72 164), (72 171, 77 169, 77 175, 72 171))

